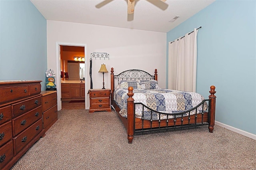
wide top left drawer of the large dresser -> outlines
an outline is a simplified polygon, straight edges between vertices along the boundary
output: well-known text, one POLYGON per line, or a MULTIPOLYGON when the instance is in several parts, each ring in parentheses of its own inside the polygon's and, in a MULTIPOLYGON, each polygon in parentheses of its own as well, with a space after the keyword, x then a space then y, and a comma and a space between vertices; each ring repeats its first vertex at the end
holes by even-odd
POLYGON ((28 85, 3 87, 0 90, 0 103, 27 97, 28 95, 28 85))

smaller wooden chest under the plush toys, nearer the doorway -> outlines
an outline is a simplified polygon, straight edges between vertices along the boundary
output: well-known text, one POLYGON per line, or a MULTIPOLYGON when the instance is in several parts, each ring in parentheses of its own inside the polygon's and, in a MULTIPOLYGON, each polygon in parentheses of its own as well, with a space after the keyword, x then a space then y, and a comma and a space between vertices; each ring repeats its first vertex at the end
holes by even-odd
POLYGON ((57 91, 42 91, 43 128, 46 132, 58 120, 57 91))

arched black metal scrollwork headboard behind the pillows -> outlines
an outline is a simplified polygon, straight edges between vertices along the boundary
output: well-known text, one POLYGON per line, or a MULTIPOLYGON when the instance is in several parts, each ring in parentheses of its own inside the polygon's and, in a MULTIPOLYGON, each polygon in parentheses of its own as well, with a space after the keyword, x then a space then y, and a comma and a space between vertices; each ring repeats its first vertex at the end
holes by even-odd
POLYGON ((155 75, 150 75, 150 73, 143 70, 131 69, 114 75, 114 79, 116 79, 118 83, 121 80, 154 80, 155 75))

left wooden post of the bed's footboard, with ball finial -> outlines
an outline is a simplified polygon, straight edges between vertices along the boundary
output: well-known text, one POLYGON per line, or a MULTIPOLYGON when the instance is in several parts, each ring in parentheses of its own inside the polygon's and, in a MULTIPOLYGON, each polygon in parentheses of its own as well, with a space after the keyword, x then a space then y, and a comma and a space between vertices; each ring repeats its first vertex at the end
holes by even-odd
POLYGON ((129 96, 127 99, 127 138, 128 143, 132 144, 133 135, 134 135, 134 99, 132 96, 134 93, 132 93, 133 87, 128 87, 128 93, 129 96))

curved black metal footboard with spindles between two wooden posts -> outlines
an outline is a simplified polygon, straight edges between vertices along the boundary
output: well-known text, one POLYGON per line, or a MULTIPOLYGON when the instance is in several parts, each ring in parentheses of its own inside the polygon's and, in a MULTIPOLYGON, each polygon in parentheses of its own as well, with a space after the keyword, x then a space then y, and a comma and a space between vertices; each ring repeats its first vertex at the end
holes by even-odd
POLYGON ((150 109, 143 103, 134 103, 134 118, 138 117, 135 114, 136 106, 142 107, 142 115, 140 115, 141 121, 139 123, 140 126, 137 125, 136 127, 136 121, 134 119, 134 132, 159 131, 173 128, 209 125, 211 111, 210 102, 211 99, 205 99, 196 107, 188 111, 178 113, 162 113, 150 109), (208 107, 205 107, 205 105, 208 107))

